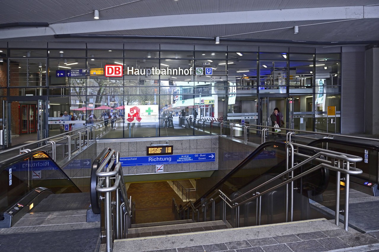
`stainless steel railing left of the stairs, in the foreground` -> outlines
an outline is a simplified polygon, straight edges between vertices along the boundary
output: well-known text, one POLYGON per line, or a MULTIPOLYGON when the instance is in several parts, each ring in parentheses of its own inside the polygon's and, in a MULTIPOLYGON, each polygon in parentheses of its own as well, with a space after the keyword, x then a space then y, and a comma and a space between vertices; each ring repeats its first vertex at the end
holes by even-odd
POLYGON ((105 234, 102 238, 106 239, 106 251, 111 252, 114 239, 127 238, 133 221, 132 198, 128 199, 127 196, 120 153, 111 150, 97 169, 96 176, 96 191, 102 194, 100 199, 105 202, 105 234), (112 201, 113 192, 116 194, 115 201, 112 201))

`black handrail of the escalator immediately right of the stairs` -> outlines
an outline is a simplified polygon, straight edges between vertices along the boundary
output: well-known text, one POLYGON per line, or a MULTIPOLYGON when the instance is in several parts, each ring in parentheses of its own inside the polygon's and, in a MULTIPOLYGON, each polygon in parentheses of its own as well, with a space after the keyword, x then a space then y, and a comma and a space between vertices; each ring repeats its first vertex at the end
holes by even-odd
MULTIPOLYGON (((217 188, 219 188, 222 183, 224 183, 227 179, 229 179, 235 172, 239 171, 241 168, 243 168, 247 163, 249 163, 252 159, 255 158, 255 156, 259 155, 266 147, 277 145, 278 147, 285 147, 284 142, 277 142, 277 141, 267 141, 261 144, 257 147, 249 156, 247 156, 241 163, 239 163, 232 171, 230 171, 227 175, 225 175, 216 185, 214 185, 212 188, 210 188, 207 193, 205 193, 202 197, 200 197, 198 200, 196 200, 193 204, 195 206, 199 205, 201 203, 201 199, 207 198, 209 194, 213 193, 217 188)), ((285 150, 283 150, 285 151, 285 150)))

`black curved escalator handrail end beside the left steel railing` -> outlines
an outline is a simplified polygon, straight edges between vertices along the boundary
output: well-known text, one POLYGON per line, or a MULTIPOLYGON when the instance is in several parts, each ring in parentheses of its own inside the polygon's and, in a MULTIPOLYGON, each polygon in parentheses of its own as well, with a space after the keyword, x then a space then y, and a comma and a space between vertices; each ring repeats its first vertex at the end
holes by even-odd
POLYGON ((111 148, 105 148, 92 162, 91 169, 91 181, 90 181, 90 197, 91 197, 91 208, 94 214, 100 213, 100 194, 96 191, 97 186, 97 176, 96 171, 99 169, 100 165, 103 163, 105 158, 110 155, 111 148))

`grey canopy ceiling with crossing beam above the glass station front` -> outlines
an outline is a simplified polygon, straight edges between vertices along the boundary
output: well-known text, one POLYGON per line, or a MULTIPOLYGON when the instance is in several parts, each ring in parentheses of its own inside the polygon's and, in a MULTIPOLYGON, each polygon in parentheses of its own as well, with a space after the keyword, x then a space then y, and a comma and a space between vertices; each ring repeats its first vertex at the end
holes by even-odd
POLYGON ((0 9, 9 42, 371 44, 378 27, 379 0, 12 0, 0 9))

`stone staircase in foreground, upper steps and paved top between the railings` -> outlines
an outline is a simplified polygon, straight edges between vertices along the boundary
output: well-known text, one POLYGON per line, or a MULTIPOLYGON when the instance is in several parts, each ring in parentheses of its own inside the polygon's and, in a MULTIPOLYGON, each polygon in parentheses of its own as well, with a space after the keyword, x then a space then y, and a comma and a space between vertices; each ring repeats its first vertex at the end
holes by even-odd
MULTIPOLYGON (((149 232, 147 233, 149 235, 151 233, 151 236, 115 240, 113 251, 307 252, 329 250, 377 251, 367 249, 379 249, 379 240, 373 235, 369 235, 368 233, 363 234, 354 229, 349 229, 349 232, 347 232, 337 227, 334 221, 328 221, 323 218, 262 226, 217 229, 218 226, 225 227, 223 222, 221 223, 219 225, 219 221, 213 222, 211 226, 208 225, 208 222, 202 222, 149 227, 149 232), (204 230, 199 229, 200 231, 196 231, 196 227, 192 226, 193 224, 207 226, 201 226, 204 230), (216 227, 216 229, 213 227, 216 227), (185 232, 186 230, 191 230, 191 232, 185 232), (157 235, 158 232, 161 232, 161 235, 157 235), (350 249, 348 250, 348 248, 350 249)), ((139 234, 141 235, 143 231, 144 227, 141 227, 135 228, 133 232, 140 232, 139 234)), ((100 248, 100 251, 105 251, 104 246, 100 248)))

